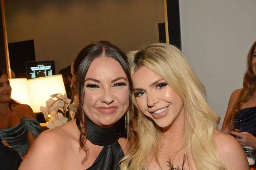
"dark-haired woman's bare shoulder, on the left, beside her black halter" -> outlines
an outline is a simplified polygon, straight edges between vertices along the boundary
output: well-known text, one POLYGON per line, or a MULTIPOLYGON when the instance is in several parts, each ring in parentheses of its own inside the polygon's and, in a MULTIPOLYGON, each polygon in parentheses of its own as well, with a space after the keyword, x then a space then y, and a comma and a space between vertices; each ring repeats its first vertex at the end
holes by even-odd
MULTIPOLYGON (((33 142, 19 170, 59 170, 65 160, 79 146, 73 122, 42 132, 33 142)), ((78 134, 77 134, 78 135, 78 134)))

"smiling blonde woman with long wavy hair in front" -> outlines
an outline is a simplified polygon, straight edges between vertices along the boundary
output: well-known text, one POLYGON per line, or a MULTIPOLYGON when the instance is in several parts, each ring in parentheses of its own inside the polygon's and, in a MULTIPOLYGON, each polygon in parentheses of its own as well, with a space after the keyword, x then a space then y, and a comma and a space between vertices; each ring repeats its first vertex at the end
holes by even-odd
POLYGON ((128 56, 140 112, 122 170, 249 170, 236 139, 217 130, 220 117, 179 49, 152 44, 128 56))

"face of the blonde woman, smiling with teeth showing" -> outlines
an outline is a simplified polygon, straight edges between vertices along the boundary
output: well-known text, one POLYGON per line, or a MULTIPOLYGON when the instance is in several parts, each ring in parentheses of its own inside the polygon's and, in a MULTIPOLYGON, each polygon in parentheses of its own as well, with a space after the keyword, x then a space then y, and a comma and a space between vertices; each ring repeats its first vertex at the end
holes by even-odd
POLYGON ((182 99, 157 73, 141 66, 132 76, 139 110, 161 128, 171 125, 184 113, 182 99))

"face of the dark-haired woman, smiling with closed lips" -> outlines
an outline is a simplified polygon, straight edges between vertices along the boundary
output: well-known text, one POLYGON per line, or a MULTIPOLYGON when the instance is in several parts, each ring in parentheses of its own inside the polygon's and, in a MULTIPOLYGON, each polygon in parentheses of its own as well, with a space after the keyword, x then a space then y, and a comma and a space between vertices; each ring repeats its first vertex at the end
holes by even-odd
POLYGON ((113 126, 129 106, 129 84, 117 60, 98 57, 85 76, 83 109, 102 128, 113 126))

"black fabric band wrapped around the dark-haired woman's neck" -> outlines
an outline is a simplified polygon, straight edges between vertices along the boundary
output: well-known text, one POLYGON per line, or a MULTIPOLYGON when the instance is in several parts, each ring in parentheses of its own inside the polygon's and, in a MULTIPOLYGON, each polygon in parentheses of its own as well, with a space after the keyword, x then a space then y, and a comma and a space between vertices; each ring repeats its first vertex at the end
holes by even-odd
MULTIPOLYGON (((117 124, 111 128, 101 128, 94 124, 90 119, 87 121, 87 136, 86 138, 93 144, 106 146, 117 142, 120 137, 124 137, 121 132, 117 132, 117 124)), ((79 119, 76 119, 76 125, 81 130, 79 119)))

